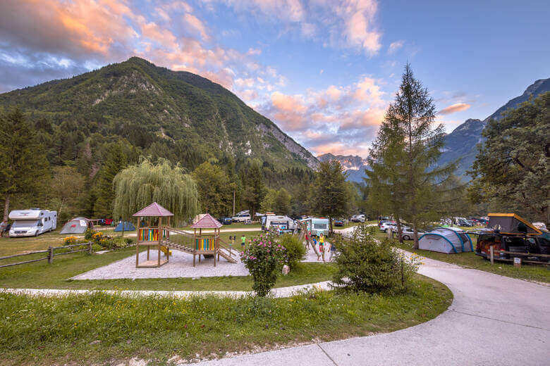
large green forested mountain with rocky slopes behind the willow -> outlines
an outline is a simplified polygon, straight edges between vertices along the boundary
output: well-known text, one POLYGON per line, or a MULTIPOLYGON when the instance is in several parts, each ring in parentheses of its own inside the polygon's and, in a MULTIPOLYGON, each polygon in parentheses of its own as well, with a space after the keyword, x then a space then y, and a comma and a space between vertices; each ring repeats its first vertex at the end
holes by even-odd
POLYGON ((237 163, 257 158, 274 170, 309 170, 319 163, 221 85, 137 57, 0 94, 0 109, 13 106, 47 134, 53 164, 100 159, 102 146, 117 139, 188 169, 228 157, 237 163))

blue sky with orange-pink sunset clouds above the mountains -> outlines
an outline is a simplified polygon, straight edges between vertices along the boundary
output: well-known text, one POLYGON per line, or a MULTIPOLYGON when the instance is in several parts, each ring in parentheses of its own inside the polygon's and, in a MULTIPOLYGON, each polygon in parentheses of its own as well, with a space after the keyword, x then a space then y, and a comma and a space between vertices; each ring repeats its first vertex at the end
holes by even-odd
POLYGON ((218 82, 314 155, 368 155, 405 64, 451 132, 550 77, 547 1, 1 0, 0 92, 131 56, 218 82))

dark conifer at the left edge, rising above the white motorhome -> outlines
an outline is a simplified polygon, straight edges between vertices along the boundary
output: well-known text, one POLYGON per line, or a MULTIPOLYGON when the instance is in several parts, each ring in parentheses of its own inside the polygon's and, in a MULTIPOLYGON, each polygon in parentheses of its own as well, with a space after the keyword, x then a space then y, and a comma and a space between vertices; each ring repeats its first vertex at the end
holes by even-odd
POLYGON ((0 115, 0 194, 4 196, 4 220, 8 220, 14 196, 40 196, 49 179, 46 153, 23 113, 0 115))

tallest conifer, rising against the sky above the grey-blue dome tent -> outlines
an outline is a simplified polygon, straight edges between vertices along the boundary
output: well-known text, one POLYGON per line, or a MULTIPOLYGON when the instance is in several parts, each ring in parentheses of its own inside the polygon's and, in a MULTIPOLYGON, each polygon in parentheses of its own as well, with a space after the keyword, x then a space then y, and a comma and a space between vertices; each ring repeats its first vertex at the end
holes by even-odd
MULTIPOLYGON (((445 135, 443 125, 433 128, 434 119, 434 101, 407 64, 396 99, 386 111, 385 125, 373 145, 371 160, 380 164, 380 174, 369 178, 372 187, 385 185, 385 194, 393 194, 389 208, 396 220, 403 217, 412 224, 414 248, 418 248, 420 223, 437 218, 434 203, 440 199, 438 187, 446 184, 456 169, 455 163, 436 166, 445 135)), ((376 194, 374 191, 371 194, 376 194)), ((401 227, 398 229, 401 236, 401 227)))

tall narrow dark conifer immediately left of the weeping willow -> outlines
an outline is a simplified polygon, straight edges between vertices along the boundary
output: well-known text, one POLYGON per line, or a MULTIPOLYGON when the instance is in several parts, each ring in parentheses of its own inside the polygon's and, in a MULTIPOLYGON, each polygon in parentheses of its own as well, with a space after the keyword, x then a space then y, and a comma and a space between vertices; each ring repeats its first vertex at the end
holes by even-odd
POLYGON ((122 144, 112 144, 107 152, 106 160, 98 173, 95 187, 97 196, 94 203, 95 217, 111 217, 114 201, 113 179, 127 165, 128 156, 124 153, 122 144))

